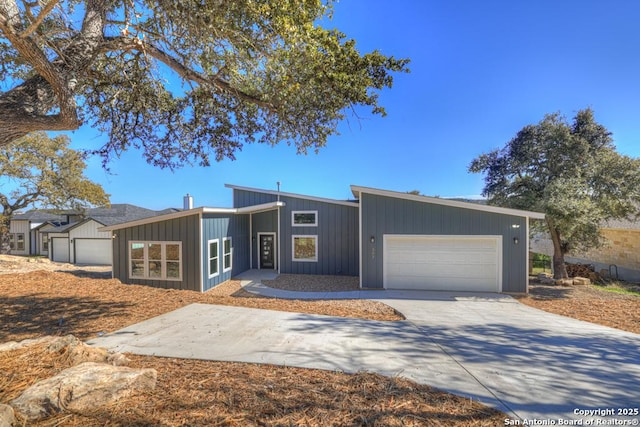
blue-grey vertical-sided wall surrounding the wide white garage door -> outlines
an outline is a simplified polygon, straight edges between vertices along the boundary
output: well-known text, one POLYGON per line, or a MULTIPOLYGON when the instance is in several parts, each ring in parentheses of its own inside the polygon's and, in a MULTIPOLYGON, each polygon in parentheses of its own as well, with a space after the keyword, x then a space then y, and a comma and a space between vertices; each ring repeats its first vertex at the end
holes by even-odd
POLYGON ((367 193, 361 193, 360 203, 363 287, 383 287, 385 234, 495 235, 503 242, 502 291, 526 292, 526 218, 367 193), (519 244, 513 243, 514 237, 519 244))

